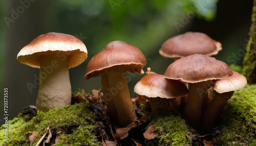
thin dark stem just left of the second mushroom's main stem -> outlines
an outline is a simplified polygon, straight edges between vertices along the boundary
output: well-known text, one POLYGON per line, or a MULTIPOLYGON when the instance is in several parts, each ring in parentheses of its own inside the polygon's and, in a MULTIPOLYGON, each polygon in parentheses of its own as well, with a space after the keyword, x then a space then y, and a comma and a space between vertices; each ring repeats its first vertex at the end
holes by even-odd
POLYGON ((106 103, 106 107, 108 107, 110 117, 114 121, 114 123, 117 122, 117 111, 115 107, 115 103, 113 100, 113 96, 111 92, 108 90, 109 87, 109 80, 108 76, 106 74, 101 76, 101 85, 102 85, 102 92, 103 92, 103 100, 106 103))

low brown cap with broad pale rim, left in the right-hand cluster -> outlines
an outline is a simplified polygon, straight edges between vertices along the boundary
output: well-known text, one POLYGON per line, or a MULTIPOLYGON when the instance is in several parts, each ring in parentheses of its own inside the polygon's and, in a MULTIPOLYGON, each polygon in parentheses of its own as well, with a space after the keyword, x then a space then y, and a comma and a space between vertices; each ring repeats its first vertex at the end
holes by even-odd
POLYGON ((152 71, 146 71, 146 74, 134 87, 134 92, 139 95, 172 99, 188 94, 186 85, 180 81, 165 79, 152 71))

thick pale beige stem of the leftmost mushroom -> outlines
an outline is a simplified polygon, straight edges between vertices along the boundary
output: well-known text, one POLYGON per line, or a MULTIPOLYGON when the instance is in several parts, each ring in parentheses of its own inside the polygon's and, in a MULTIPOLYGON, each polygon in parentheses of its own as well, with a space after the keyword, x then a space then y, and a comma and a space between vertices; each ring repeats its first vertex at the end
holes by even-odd
POLYGON ((37 109, 48 111, 70 104, 71 84, 67 56, 42 55, 36 100, 37 109))

